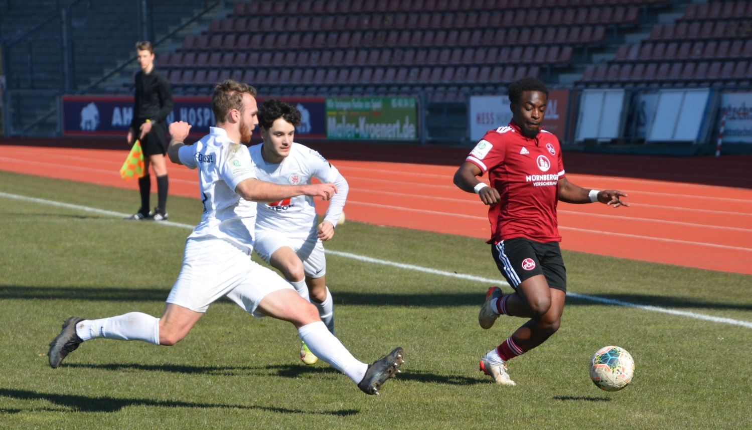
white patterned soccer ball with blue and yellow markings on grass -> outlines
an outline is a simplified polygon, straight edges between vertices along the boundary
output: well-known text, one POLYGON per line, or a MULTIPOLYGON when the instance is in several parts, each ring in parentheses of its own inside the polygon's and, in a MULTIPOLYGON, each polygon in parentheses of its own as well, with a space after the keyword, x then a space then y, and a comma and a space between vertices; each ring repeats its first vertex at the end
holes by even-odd
POLYGON ((619 391, 635 374, 635 360, 621 347, 602 347, 590 359, 590 379, 599 389, 619 391))

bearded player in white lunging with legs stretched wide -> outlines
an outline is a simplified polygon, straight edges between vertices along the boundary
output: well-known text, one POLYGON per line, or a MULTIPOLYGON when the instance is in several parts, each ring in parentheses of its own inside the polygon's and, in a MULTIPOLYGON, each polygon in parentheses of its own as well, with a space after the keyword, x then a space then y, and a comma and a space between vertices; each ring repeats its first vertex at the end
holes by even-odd
POLYGON ((253 262, 254 201, 271 201, 295 195, 320 196, 337 191, 332 183, 279 185, 256 179, 253 162, 244 145, 258 123, 256 89, 226 80, 217 84, 212 110, 217 126, 196 144, 186 146, 190 125, 172 123, 168 147, 171 162, 199 170, 204 213, 186 240, 183 266, 167 298, 161 318, 131 312, 103 319, 65 319, 62 331, 47 356, 57 368, 68 353, 84 341, 109 338, 174 345, 186 337, 209 304, 226 295, 253 316, 273 316, 289 321, 300 338, 321 359, 337 368, 366 394, 399 373, 402 348, 367 365, 355 359, 319 318, 316 307, 298 295, 279 275, 253 262))

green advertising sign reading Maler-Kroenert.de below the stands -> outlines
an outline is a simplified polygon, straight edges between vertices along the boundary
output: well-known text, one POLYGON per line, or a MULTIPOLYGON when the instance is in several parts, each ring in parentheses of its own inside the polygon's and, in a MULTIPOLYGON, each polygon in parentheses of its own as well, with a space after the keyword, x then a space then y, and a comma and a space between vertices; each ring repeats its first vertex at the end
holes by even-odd
POLYGON ((414 97, 327 97, 326 138, 417 141, 414 97))

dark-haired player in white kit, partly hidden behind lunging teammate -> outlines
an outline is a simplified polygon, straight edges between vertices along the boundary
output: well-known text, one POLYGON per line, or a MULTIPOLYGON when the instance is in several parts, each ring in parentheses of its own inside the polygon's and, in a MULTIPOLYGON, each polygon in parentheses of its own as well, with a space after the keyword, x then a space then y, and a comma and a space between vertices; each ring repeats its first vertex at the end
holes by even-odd
MULTIPOLYGON (((315 177, 334 183, 337 193, 329 200, 326 216, 318 222, 314 199, 308 195, 259 203, 256 218, 256 253, 277 268, 303 298, 319 310, 334 334, 334 302, 326 286, 326 256, 321 241, 334 237, 334 229, 347 199, 347 180, 317 151, 293 142, 301 114, 292 104, 265 100, 259 108, 262 144, 249 147, 256 177, 285 185, 308 184, 315 177)), ((303 342, 300 359, 307 365, 318 361, 303 342)))

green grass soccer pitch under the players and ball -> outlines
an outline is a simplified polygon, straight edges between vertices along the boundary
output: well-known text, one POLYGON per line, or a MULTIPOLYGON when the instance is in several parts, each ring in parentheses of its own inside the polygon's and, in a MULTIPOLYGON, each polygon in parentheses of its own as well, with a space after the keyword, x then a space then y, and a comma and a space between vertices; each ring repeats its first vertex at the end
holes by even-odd
POLYGON ((562 328, 510 362, 517 386, 496 386, 478 358, 523 320, 478 327, 500 279, 487 245, 352 222, 327 277, 356 357, 405 347, 381 396, 302 365, 290 324, 224 300, 175 347, 96 340, 53 370, 65 317, 162 312, 200 203, 171 197, 170 224, 137 223, 119 215, 135 190, 0 172, 0 193, 2 428, 752 428, 752 277, 565 251, 562 328), (635 358, 620 392, 587 375, 608 344, 635 358))

